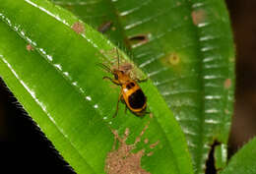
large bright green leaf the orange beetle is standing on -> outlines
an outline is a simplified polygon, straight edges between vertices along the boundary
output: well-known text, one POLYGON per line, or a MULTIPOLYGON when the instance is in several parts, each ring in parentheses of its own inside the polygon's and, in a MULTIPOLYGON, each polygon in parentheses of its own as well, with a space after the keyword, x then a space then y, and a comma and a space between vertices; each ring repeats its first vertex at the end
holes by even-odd
MULTIPOLYGON (((137 142, 128 152, 139 158, 130 167, 160 174, 192 173, 185 137, 150 80, 141 87, 151 116, 125 114, 120 103, 112 118, 120 89, 103 81, 110 75, 96 66, 116 61, 110 41, 48 1, 0 4, 0 76, 77 173, 104 173, 105 161, 113 160, 113 133, 122 137, 127 130, 125 144, 137 142)), ((119 54, 121 62, 130 62, 119 54)), ((145 77, 136 67, 133 72, 145 77)))

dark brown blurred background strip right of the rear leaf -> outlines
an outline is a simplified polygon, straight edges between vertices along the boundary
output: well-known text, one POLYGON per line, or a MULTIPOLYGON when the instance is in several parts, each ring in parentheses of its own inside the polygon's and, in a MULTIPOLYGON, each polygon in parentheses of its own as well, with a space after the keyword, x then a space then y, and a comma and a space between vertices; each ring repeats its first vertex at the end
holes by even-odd
POLYGON ((226 0, 236 45, 236 90, 230 152, 256 135, 256 1, 226 0))

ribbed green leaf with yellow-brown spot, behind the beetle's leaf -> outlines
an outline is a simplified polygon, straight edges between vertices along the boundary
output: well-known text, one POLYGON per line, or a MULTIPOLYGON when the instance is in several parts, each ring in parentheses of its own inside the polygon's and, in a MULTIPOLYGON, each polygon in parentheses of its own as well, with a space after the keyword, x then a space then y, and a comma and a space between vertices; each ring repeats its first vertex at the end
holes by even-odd
MULTIPOLYGON (((72 1, 57 2, 65 7, 72 1)), ((84 20, 96 18, 96 28, 106 18, 121 30, 124 39, 111 29, 106 34, 126 44, 158 87, 186 134, 196 173, 204 173, 211 145, 227 144, 233 110, 234 48, 224 1, 107 2, 79 0, 68 9, 84 20)), ((216 160, 223 163, 219 156, 226 156, 226 149, 218 151, 216 160)))

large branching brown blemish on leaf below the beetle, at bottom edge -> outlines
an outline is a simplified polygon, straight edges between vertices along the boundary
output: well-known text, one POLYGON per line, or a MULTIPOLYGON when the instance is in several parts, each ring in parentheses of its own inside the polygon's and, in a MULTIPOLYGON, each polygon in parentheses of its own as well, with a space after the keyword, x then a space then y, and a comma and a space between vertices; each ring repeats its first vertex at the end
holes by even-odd
MULTIPOLYGON (((148 122, 149 124, 149 122, 148 122)), ((112 151, 107 154, 105 160, 105 172, 107 174, 127 174, 127 173, 140 173, 140 174, 150 174, 148 171, 141 168, 141 158, 145 155, 151 156, 154 154, 153 151, 145 153, 145 149, 141 149, 137 152, 132 152, 136 148, 136 145, 141 142, 141 137, 144 135, 148 129, 148 124, 145 126, 141 134, 135 139, 134 144, 127 145, 126 140, 129 136, 129 129, 126 128, 124 136, 121 138, 118 136, 116 130, 112 130, 114 135, 114 145, 112 151), (118 148, 116 147, 117 141, 119 142, 118 148)), ((144 143, 148 144, 149 140, 145 139, 144 143)), ((153 145, 151 148, 156 147, 159 144, 159 141, 153 145)))

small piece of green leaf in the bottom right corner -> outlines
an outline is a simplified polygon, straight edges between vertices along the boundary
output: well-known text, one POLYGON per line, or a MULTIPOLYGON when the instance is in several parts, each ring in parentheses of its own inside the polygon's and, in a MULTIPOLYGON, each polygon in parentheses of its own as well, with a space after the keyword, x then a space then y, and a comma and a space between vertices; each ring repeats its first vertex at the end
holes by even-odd
POLYGON ((238 150, 230 159, 221 174, 255 174, 256 173, 256 139, 238 150))

